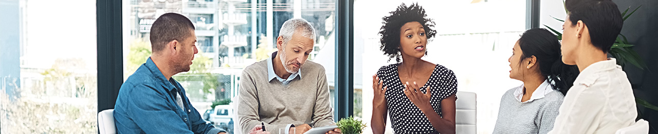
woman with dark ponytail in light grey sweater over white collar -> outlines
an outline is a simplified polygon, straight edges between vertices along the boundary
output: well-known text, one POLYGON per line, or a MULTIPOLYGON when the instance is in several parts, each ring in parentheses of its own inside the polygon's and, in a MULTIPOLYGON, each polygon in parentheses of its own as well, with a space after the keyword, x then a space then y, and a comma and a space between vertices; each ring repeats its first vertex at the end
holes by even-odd
POLYGON ((509 57, 509 78, 523 84, 503 95, 493 133, 548 133, 578 68, 561 60, 560 42, 545 29, 521 35, 509 57))

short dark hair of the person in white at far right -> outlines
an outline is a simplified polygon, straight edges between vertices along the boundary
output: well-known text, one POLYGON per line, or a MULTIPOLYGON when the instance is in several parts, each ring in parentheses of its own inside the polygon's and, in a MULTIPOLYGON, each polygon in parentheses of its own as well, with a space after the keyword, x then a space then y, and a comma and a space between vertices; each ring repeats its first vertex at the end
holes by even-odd
POLYGON ((611 0, 567 0, 565 8, 572 25, 582 20, 587 26, 594 47, 603 53, 610 51, 624 25, 617 4, 611 0))

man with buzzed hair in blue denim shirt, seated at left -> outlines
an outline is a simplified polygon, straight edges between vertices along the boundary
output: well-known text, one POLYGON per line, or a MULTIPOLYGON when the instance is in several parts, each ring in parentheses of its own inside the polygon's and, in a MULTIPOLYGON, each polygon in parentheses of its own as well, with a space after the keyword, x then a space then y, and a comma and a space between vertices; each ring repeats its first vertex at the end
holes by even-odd
POLYGON ((151 27, 153 54, 121 85, 114 123, 118 133, 205 133, 226 131, 206 123, 171 78, 190 71, 195 46, 194 26, 176 13, 160 16, 151 27))

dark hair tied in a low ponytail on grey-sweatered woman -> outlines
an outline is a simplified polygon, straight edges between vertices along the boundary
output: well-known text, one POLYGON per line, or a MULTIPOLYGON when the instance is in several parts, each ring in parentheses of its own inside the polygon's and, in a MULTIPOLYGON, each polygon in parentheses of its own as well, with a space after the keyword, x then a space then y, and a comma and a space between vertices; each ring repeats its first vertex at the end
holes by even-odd
POLYGON ((535 56, 542 76, 547 77, 551 87, 567 95, 580 72, 577 66, 562 62, 557 37, 544 28, 532 28, 521 35, 519 47, 523 51, 519 61, 535 56))

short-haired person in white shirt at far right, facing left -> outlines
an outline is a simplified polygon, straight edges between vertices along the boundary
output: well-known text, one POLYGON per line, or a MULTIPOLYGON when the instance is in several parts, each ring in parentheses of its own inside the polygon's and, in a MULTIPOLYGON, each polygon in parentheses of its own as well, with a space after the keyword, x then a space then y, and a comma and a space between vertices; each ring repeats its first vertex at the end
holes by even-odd
POLYGON ((615 133, 638 113, 626 73, 607 52, 623 21, 610 0, 567 0, 562 61, 580 70, 550 133, 615 133))

